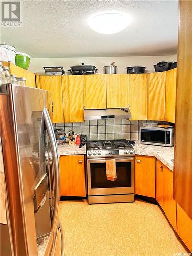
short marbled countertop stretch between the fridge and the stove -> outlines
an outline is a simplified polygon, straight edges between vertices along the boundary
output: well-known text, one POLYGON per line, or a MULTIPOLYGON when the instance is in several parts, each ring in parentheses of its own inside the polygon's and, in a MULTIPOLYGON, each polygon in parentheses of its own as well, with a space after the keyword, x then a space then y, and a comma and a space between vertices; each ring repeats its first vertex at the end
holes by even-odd
POLYGON ((64 145, 58 145, 58 156, 62 155, 86 155, 86 145, 79 148, 79 145, 70 146, 68 143, 64 145))

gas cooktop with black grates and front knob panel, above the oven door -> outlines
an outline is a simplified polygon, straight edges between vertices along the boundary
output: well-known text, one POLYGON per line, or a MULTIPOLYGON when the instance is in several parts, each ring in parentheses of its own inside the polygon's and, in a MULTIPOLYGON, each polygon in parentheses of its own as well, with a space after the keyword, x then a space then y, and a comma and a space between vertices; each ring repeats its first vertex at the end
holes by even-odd
POLYGON ((127 140, 90 140, 87 142, 87 157, 134 156, 134 149, 127 140))

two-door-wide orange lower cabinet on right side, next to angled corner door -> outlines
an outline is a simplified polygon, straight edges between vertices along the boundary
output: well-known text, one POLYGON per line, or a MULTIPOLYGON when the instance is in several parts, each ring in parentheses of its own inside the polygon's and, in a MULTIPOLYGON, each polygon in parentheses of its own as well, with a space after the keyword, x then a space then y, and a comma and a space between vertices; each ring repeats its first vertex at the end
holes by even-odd
POLYGON ((156 161, 156 200, 176 230, 176 201, 173 199, 173 172, 156 161))

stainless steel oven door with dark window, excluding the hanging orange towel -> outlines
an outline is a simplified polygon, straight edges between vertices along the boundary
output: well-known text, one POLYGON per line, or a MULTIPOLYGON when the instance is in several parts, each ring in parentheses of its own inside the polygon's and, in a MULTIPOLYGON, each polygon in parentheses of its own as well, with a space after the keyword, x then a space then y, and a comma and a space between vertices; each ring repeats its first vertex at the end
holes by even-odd
POLYGON ((115 158, 117 178, 106 179, 106 158, 88 159, 88 195, 134 193, 134 158, 115 158))

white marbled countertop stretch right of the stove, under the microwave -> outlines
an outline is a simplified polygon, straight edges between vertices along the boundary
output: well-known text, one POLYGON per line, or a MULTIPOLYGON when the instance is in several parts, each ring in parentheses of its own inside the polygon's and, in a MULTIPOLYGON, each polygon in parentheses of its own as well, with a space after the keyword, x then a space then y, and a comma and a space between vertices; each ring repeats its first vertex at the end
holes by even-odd
POLYGON ((174 147, 145 145, 136 141, 134 150, 135 155, 155 156, 173 172, 174 164, 171 160, 174 158, 174 147))

